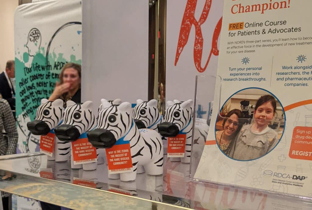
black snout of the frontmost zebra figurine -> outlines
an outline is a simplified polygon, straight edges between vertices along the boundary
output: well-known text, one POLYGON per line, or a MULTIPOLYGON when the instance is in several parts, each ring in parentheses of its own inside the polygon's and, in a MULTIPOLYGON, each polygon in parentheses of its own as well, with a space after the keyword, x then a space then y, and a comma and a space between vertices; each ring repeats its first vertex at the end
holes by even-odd
POLYGON ((103 128, 97 128, 87 133, 89 142, 95 148, 111 148, 116 143, 112 132, 103 128))

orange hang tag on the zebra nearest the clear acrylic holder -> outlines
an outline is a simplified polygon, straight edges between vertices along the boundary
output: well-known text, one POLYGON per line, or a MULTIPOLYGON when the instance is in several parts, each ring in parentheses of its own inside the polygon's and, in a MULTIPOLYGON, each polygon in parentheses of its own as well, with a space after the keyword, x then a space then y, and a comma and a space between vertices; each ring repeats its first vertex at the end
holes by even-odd
POLYGON ((185 153, 186 134, 168 137, 168 158, 183 158, 185 153))

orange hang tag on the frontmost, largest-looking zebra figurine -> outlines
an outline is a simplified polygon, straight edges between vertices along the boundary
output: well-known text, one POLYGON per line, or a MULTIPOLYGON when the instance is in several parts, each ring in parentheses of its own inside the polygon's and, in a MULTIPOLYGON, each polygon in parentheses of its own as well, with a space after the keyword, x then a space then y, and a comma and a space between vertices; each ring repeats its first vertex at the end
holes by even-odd
MULTIPOLYGON (((119 142, 119 139, 117 142, 119 142)), ((109 149, 105 149, 108 173, 127 173, 132 172, 132 159, 130 152, 130 143, 116 144, 109 149)), ((129 142, 129 141, 125 141, 129 142)))

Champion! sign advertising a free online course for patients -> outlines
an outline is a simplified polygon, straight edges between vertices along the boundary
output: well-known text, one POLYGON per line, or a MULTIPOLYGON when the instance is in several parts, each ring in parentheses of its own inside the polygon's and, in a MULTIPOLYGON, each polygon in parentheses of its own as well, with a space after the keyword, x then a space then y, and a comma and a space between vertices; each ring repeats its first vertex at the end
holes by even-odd
POLYGON ((224 2, 221 108, 194 178, 312 197, 311 5, 224 2))

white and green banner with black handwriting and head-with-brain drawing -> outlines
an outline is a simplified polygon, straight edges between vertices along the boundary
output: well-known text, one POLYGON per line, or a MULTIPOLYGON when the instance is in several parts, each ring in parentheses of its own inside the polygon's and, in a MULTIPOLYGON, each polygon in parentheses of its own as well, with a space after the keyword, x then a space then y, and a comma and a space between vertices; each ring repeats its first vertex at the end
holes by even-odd
POLYGON ((27 130, 42 98, 49 98, 62 67, 81 64, 81 1, 22 4, 14 19, 17 153, 39 151, 40 136, 27 130))

